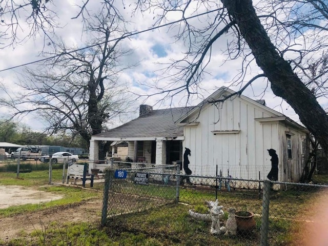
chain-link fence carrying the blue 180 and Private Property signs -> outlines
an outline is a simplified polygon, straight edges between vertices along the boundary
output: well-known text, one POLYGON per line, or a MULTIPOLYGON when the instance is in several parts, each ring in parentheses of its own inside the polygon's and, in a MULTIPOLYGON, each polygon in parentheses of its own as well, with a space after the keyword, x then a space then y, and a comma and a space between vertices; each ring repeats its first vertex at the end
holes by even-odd
MULTIPOLYGON (((322 222, 316 212, 328 186, 187 176, 172 165, 110 166, 104 170, 103 225, 109 218, 154 208, 170 216, 172 206, 183 204, 188 219, 205 221, 209 233, 221 240, 229 236, 238 245, 301 245, 314 235, 310 228, 322 222)), ((173 214, 172 223, 177 219, 173 214)))

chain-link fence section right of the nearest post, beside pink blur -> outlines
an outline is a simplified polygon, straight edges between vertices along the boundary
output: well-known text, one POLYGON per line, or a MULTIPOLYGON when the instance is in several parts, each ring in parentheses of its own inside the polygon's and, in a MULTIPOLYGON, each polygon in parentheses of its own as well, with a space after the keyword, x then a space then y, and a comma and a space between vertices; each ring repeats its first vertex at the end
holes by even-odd
POLYGON ((277 244, 278 239, 283 245, 326 245, 327 188, 264 181, 261 245, 277 244))

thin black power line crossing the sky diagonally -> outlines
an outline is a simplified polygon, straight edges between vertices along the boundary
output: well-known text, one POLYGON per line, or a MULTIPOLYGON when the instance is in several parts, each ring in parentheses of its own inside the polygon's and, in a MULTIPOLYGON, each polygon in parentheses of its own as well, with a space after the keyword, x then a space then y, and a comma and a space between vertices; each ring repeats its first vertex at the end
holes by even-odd
POLYGON ((172 24, 175 24, 175 23, 182 22, 183 20, 192 19, 192 18, 201 16, 201 15, 204 15, 204 14, 209 14, 209 13, 212 13, 212 12, 215 12, 215 11, 218 11, 218 10, 219 9, 207 11, 207 12, 197 14, 197 15, 193 15, 193 16, 190 16, 190 17, 187 17, 187 18, 175 20, 174 22, 163 24, 163 25, 160 25, 160 26, 157 26, 157 27, 152 27, 152 28, 149 28, 149 29, 146 29, 146 30, 142 30, 142 31, 134 32, 134 33, 129 33, 129 34, 123 35, 122 37, 114 38, 114 39, 111 39, 111 40, 108 40, 108 41, 105 41, 105 42, 102 42, 102 43, 97 43, 97 44, 94 44, 94 45, 86 46, 86 47, 76 49, 76 50, 72 50, 72 51, 69 51, 69 52, 62 52, 62 53, 57 54, 57 55, 53 55, 53 56, 50 56, 50 57, 47 57, 47 58, 44 58, 44 59, 34 60, 34 61, 29 62, 29 63, 17 65, 17 66, 14 66, 14 67, 5 68, 3 70, 0 70, 0 72, 4 72, 4 71, 7 71, 7 70, 19 68, 19 67, 24 67, 24 66, 31 65, 31 64, 34 64, 34 63, 39 63, 40 61, 50 60, 52 58, 56 58, 56 57, 61 56, 61 55, 70 54, 70 53, 77 52, 77 51, 80 51, 80 50, 89 49, 89 48, 95 47, 97 45, 103 45, 103 44, 108 43, 108 42, 117 41, 119 39, 124 39, 124 38, 127 38, 127 37, 131 37, 131 36, 134 36, 134 35, 137 35, 137 34, 140 34, 140 33, 149 32, 149 31, 152 31, 152 30, 155 30, 155 29, 158 29, 158 28, 162 28, 162 27, 165 27, 165 26, 169 26, 169 25, 172 25, 172 24))

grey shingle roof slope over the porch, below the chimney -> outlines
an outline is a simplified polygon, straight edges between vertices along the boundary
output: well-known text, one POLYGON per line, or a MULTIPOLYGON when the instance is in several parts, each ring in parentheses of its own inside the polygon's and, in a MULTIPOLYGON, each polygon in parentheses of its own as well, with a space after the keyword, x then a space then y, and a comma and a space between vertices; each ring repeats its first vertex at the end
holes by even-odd
POLYGON ((152 110, 140 115, 108 132, 99 133, 96 137, 178 137, 183 136, 183 127, 174 124, 193 107, 152 110))

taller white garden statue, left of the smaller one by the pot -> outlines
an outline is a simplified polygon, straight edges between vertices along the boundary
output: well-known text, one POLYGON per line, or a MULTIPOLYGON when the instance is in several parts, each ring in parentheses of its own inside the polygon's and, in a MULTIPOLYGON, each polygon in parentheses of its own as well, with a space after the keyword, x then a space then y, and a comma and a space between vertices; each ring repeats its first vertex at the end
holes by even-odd
POLYGON ((210 209, 212 224, 211 224, 211 234, 223 234, 226 232, 225 227, 220 227, 220 219, 223 219, 224 212, 222 210, 223 206, 218 206, 218 201, 206 201, 207 206, 210 209))

